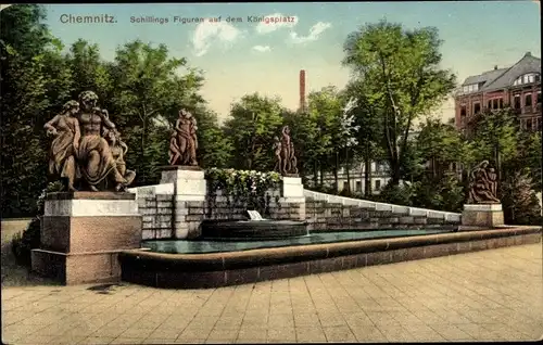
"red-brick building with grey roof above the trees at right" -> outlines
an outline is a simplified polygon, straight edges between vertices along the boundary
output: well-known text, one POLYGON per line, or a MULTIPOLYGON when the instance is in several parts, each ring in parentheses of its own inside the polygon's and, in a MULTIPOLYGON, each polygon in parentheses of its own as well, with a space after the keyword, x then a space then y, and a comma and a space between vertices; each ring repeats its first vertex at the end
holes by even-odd
POLYGON ((526 53, 516 64, 466 78, 455 95, 455 125, 469 129, 470 119, 487 110, 512 107, 523 130, 541 130, 541 59, 526 53))

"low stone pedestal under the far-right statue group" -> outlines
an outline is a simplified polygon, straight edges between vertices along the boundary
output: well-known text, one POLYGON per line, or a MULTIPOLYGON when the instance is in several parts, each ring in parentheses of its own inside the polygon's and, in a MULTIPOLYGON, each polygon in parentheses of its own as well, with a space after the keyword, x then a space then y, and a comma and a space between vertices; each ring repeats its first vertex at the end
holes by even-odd
POLYGON ((459 230, 492 229, 504 225, 502 204, 464 205, 459 230))

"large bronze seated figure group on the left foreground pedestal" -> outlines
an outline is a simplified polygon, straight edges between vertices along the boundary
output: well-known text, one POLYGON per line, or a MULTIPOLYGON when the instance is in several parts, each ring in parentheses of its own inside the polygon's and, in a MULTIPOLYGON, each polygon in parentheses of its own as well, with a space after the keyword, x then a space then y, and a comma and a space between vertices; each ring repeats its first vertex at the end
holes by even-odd
POLYGON ((94 92, 84 91, 78 102, 66 102, 61 114, 45 125, 48 135, 54 136, 49 174, 64 179, 70 191, 124 191, 136 177, 124 163, 128 148, 108 111, 97 103, 94 92))

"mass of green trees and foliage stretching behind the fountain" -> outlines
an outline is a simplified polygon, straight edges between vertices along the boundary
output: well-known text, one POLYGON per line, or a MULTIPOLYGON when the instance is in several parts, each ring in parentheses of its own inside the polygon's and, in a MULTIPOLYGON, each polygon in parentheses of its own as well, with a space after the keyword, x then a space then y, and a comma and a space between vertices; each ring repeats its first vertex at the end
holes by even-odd
MULTIPOLYGON (((429 117, 456 82, 441 67, 442 41, 435 28, 406 29, 387 21, 362 26, 344 43, 343 64, 353 72, 351 80, 344 89, 311 92, 305 113, 286 108, 278 98, 253 93, 235 102, 229 114, 216 114, 201 95, 204 74, 164 44, 129 41, 105 61, 97 44, 79 39, 64 47, 52 37, 40 5, 14 5, 0 15, 3 217, 39 214, 36 199, 48 183, 50 145, 43 124, 83 90, 94 91, 117 125, 129 148, 127 166, 137 171, 136 186, 159 182, 177 112, 185 107, 198 120, 198 161, 213 188, 238 199, 254 195, 251 181, 257 182, 256 189, 275 181, 275 175, 240 170, 272 170, 274 137, 288 125, 300 175, 311 188, 337 192, 342 168, 350 180, 358 162, 366 171, 371 162, 388 162, 391 184, 374 196, 366 174, 365 193, 356 196, 458 210, 467 171, 489 159, 497 169, 504 203, 519 200, 526 206, 519 207, 536 212, 530 203, 534 190, 541 190, 540 133, 520 131, 508 108, 472 118, 473 130, 466 136, 429 117), (226 117, 224 125, 219 116, 226 117), (527 168, 526 178, 518 176, 519 167, 527 168), (235 180, 230 171, 237 171, 235 180), (330 173, 333 187, 324 181, 330 173), (523 188, 520 194, 518 186, 523 188)), ((342 193, 353 194, 349 188, 342 193)), ((507 207, 509 221, 533 219, 507 207)))

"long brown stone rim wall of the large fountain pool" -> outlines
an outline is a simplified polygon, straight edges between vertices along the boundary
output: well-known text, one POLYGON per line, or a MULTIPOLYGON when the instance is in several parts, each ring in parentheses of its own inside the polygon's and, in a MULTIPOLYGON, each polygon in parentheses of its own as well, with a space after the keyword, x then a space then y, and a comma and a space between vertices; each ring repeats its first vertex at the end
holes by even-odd
POLYGON ((539 242, 541 227, 506 227, 222 253, 131 250, 119 253, 119 261, 124 281, 155 288, 202 289, 539 242))

